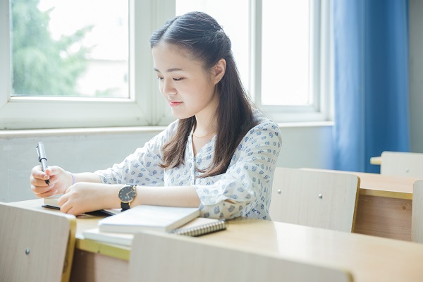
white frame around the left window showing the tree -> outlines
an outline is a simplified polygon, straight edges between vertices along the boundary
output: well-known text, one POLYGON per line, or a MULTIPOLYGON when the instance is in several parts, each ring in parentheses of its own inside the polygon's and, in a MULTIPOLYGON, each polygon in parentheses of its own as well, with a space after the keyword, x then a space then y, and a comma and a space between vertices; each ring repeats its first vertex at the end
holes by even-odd
POLYGON ((129 1, 129 99, 11 97, 9 1, 0 0, 0 129, 168 124, 173 117, 159 94, 148 44, 152 32, 174 15, 174 7, 165 4, 129 1))

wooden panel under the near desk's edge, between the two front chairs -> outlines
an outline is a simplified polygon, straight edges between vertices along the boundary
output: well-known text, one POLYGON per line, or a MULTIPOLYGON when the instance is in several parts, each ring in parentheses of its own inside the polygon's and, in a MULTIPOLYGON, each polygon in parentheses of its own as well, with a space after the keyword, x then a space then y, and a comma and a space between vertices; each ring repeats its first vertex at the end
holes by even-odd
POLYGON ((129 262, 75 249, 70 281, 129 281, 129 262))

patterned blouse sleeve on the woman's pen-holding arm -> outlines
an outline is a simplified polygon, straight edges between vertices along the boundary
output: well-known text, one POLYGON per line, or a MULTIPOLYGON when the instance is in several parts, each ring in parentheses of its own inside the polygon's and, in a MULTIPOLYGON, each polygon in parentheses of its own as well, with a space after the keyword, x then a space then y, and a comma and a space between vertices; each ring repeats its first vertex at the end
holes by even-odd
POLYGON ((94 173, 107 184, 164 185, 164 168, 159 166, 161 147, 176 130, 176 124, 171 123, 166 130, 145 143, 144 147, 136 149, 120 164, 94 173))

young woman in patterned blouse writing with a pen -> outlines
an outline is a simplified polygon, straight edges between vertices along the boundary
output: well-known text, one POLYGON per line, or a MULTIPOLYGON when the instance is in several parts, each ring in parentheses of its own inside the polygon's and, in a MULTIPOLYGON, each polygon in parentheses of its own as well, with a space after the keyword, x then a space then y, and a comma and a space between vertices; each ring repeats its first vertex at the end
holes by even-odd
POLYGON ((252 107, 221 26, 205 13, 186 13, 154 32, 150 44, 176 121, 106 170, 35 166, 32 191, 63 193, 59 204, 68 214, 151 204, 200 207, 210 218, 270 219, 281 133, 252 107))

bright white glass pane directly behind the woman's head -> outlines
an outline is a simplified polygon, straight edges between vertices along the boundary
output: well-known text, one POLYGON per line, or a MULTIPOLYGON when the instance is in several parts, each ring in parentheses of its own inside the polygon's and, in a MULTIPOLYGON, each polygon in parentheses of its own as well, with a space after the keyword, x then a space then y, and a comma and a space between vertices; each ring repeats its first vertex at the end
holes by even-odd
POLYGON ((249 1, 245 0, 176 0, 176 16, 190 11, 209 14, 231 39, 232 52, 244 86, 249 89, 249 1), (224 7, 224 8, 223 8, 224 7), (236 13, 236 20, 234 18, 236 13))

